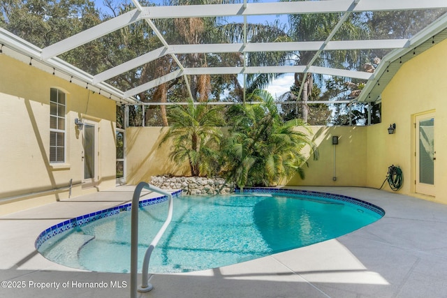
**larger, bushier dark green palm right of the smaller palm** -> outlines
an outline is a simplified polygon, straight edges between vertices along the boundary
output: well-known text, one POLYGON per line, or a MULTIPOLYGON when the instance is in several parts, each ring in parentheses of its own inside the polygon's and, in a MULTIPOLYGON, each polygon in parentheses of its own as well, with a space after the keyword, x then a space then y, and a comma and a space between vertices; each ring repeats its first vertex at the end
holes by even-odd
POLYGON ((228 179, 243 189, 246 185, 277 185, 293 174, 304 178, 302 165, 307 158, 301 151, 309 145, 316 159, 315 144, 295 129, 295 120, 281 120, 268 91, 257 89, 249 98, 260 103, 235 105, 229 110, 233 127, 223 149, 228 179))

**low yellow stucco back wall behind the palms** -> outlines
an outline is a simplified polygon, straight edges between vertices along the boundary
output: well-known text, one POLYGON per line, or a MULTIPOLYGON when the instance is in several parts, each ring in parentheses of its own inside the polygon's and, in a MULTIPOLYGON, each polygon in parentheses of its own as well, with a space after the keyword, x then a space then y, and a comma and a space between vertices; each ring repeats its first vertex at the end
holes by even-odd
MULTIPOLYGON (((310 137, 318 146, 320 158, 313 161, 309 158, 309 167, 305 166, 306 177, 299 176, 290 181, 283 181, 287 185, 307 186, 365 186, 366 184, 366 127, 360 126, 311 126, 310 137), (332 145, 332 135, 339 136, 339 144, 332 145), (335 147, 335 176, 334 181, 334 147, 335 147)), ((170 161, 170 144, 159 143, 166 128, 160 127, 131 127, 126 129, 127 151, 127 183, 138 184, 149 181, 157 174, 190 174, 185 163, 177 170, 175 163, 170 161)), ((385 175, 383 173, 383 175, 385 175)), ((383 177, 381 179, 383 181, 383 177)))

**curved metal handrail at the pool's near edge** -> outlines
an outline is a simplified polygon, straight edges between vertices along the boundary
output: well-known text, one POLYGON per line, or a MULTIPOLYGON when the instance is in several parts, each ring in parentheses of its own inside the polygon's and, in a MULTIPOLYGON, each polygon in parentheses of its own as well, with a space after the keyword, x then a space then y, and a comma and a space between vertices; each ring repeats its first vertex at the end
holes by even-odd
POLYGON ((173 195, 164 191, 161 188, 148 184, 146 182, 140 182, 135 191, 133 191, 132 197, 132 209, 131 209, 131 298, 137 297, 138 292, 149 292, 152 290, 152 284, 148 283, 148 268, 149 260, 151 258, 152 251, 156 244, 159 242, 161 236, 168 228, 171 219, 173 218, 173 195), (145 253, 145 259, 142 264, 142 281, 140 288, 137 288, 138 279, 138 207, 140 201, 140 194, 143 188, 149 191, 154 191, 156 193, 161 193, 162 195, 168 196, 168 216, 165 223, 161 226, 159 232, 155 235, 152 242, 149 244, 147 251, 145 253))

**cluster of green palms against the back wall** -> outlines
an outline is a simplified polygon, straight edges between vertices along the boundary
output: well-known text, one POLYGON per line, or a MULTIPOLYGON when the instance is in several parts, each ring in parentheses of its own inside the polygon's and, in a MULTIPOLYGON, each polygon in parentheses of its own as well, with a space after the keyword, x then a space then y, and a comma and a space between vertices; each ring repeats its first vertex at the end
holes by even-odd
MULTIPOLYGON (((259 104, 233 105, 226 117, 230 124, 223 135, 220 107, 206 104, 177 105, 170 110, 171 123, 161 144, 170 140, 170 158, 188 162, 192 176, 224 175, 237 186, 274 186, 295 174, 304 178, 303 166, 309 146, 318 158, 315 144, 298 131, 302 122, 283 121, 268 91, 256 89, 248 96, 259 104)), ((305 127, 305 126, 304 126, 305 127)))

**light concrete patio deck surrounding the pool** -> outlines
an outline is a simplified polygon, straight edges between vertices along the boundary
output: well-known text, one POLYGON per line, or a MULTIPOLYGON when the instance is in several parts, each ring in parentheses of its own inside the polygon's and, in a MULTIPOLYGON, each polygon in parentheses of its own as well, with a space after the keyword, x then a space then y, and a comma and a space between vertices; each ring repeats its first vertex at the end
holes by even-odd
MULTIPOLYGON (((386 215, 312 246, 228 267, 156 275, 154 290, 139 297, 447 297, 447 205, 371 188, 300 189, 349 195, 386 215)), ((54 264, 36 252, 34 241, 55 223, 129 202, 132 193, 132 186, 120 186, 0 217, 0 297, 129 297, 130 274, 54 264), (87 282, 108 286, 88 288, 87 282)))

